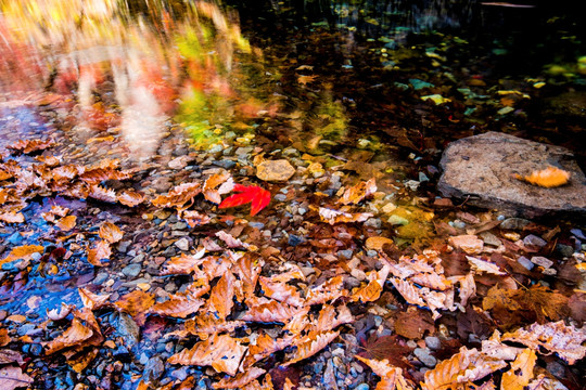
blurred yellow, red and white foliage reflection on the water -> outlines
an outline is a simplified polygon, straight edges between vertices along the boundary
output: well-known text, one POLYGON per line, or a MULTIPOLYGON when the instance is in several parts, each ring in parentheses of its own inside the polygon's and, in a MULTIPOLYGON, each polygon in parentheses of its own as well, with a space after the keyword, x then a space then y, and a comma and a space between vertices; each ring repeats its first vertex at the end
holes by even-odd
POLYGON ((234 56, 251 48, 215 2, 0 0, 0 99, 53 93, 84 141, 120 135, 148 158, 177 109, 190 130, 209 130, 227 109, 218 96, 240 99, 234 56))

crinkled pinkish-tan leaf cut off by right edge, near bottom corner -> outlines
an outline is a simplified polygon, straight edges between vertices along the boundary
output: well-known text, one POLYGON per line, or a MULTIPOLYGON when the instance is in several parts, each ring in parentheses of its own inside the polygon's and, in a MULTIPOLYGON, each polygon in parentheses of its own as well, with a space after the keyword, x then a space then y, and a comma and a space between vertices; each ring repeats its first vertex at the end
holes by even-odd
POLYGON ((526 328, 502 335, 504 341, 517 341, 536 351, 548 350, 557 353, 569 364, 584 359, 586 347, 586 326, 576 329, 574 325, 566 326, 563 321, 544 325, 532 324, 526 328))

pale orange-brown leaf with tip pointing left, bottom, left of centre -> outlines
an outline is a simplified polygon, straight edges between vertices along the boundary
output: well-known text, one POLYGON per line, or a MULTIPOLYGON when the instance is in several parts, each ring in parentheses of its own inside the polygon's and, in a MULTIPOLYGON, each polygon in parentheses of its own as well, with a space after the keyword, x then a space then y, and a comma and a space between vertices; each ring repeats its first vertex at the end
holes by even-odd
POLYGON ((184 349, 168 359, 170 364, 211 365, 217 372, 234 376, 246 347, 228 335, 213 335, 192 349, 184 349))

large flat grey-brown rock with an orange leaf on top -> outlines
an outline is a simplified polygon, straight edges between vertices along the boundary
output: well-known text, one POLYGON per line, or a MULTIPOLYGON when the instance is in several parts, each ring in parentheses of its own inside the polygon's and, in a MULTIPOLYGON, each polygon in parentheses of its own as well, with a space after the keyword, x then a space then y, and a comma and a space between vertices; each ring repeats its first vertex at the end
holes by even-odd
POLYGON ((586 214, 586 178, 564 147, 487 132, 449 144, 440 165, 437 187, 446 197, 512 217, 586 214), (545 188, 514 178, 548 166, 569 171, 570 183, 545 188))

